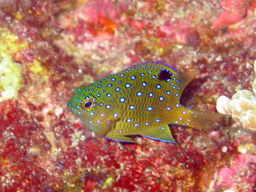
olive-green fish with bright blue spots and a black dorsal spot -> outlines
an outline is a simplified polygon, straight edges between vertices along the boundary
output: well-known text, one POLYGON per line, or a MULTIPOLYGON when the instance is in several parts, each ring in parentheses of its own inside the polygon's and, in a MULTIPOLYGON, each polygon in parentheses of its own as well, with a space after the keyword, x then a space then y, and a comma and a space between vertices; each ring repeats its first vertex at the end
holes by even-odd
POLYGON ((143 62, 106 76, 87 86, 78 86, 67 108, 98 138, 135 142, 130 136, 176 143, 170 125, 182 125, 202 132, 224 116, 193 110, 180 104, 184 88, 197 71, 179 73, 165 63, 143 62))

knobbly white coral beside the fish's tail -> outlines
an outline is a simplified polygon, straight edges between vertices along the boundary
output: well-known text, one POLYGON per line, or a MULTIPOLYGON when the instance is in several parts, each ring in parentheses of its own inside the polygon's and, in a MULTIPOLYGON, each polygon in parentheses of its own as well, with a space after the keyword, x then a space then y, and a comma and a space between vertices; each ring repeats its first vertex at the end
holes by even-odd
MULTIPOLYGON (((256 60, 254 61, 256 73, 256 60)), ((217 100, 218 112, 232 116, 238 126, 256 132, 256 79, 252 82, 252 90, 239 90, 230 99, 222 95, 217 100)))

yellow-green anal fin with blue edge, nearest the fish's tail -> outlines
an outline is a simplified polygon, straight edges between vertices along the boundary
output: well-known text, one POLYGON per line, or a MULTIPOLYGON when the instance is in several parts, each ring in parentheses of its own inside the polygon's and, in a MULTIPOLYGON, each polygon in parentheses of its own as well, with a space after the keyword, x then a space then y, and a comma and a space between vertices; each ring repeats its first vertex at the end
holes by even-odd
POLYGON ((164 142, 176 143, 167 124, 163 126, 152 127, 148 130, 143 130, 140 135, 164 142))

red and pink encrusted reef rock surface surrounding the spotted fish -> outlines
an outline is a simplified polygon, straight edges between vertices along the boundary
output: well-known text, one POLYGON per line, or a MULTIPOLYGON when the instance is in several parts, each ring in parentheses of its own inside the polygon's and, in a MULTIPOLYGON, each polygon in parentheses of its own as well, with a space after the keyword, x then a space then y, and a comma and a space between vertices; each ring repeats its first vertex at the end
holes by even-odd
MULTIPOLYGON (((199 71, 181 104, 252 90, 256 0, 0 0, 1 192, 254 192, 256 135, 225 117, 177 144, 118 144, 66 109, 88 85, 141 62, 199 71)), ((256 110, 256 109, 254 109, 256 110)))

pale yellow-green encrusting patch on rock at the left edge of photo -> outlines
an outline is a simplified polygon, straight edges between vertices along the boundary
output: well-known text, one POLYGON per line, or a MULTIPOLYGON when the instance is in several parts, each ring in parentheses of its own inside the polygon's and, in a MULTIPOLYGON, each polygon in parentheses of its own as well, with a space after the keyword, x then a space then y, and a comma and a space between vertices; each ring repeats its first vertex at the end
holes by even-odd
POLYGON ((14 53, 27 48, 7 28, 0 28, 0 102, 18 98, 22 86, 21 67, 13 60, 14 53))

